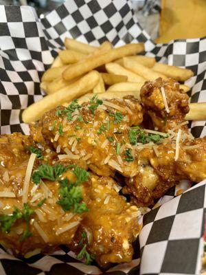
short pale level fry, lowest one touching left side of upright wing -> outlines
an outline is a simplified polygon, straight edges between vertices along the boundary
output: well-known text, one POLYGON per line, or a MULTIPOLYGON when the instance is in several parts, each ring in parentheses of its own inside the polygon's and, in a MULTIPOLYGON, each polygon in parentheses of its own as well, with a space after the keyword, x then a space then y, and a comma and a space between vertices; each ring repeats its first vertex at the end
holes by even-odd
POLYGON ((143 85, 144 85, 144 82, 142 82, 142 83, 131 83, 131 82, 116 83, 116 84, 112 85, 111 87, 108 87, 106 92, 111 92, 111 91, 119 91, 120 93, 122 91, 140 92, 141 87, 143 85))

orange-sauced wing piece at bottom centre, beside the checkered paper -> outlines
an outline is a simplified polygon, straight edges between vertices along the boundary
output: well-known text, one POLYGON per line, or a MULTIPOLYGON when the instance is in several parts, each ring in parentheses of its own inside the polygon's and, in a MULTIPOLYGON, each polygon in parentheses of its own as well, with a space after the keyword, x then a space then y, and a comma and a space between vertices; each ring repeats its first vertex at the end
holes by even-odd
POLYGON ((87 251, 100 266, 131 261, 132 243, 140 230, 137 206, 131 206, 117 191, 113 179, 91 175, 89 212, 82 219, 71 246, 79 252, 80 243, 87 245, 87 251))

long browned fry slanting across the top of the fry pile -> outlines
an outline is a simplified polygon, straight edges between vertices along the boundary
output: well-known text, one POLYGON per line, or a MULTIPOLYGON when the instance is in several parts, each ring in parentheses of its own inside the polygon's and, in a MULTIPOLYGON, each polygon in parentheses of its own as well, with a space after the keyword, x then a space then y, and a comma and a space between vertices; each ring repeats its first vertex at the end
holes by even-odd
POLYGON ((63 78, 65 80, 71 80, 76 78, 77 76, 81 76, 96 67, 99 67, 103 64, 111 62, 115 59, 128 56, 131 54, 137 54, 138 52, 142 52, 144 50, 144 44, 128 44, 122 47, 117 47, 107 52, 100 54, 99 56, 92 56, 91 58, 87 58, 82 63, 81 61, 70 65, 65 72, 63 72, 63 78))

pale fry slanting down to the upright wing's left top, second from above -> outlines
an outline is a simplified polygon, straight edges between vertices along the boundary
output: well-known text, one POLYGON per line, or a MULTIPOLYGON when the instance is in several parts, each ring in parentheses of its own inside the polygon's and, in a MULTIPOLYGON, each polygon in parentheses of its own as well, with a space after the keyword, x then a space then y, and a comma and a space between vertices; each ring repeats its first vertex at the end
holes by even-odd
POLYGON ((139 76, 133 72, 130 72, 128 69, 125 69, 121 65, 117 63, 108 63, 105 65, 106 71, 110 74, 122 74, 123 76, 128 77, 128 82, 137 82, 137 83, 142 83, 146 81, 145 78, 142 76, 139 76))

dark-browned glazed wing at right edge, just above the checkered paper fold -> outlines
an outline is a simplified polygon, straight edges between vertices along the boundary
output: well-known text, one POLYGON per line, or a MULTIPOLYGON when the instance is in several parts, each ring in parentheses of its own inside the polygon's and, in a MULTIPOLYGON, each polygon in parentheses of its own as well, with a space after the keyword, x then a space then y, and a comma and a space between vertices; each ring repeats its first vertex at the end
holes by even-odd
POLYGON ((206 137, 181 142, 177 160, 175 154, 171 141, 157 146, 156 153, 152 148, 139 153, 139 173, 126 179, 124 188, 133 194, 137 206, 152 205, 181 179, 199 182, 206 178, 206 137))

